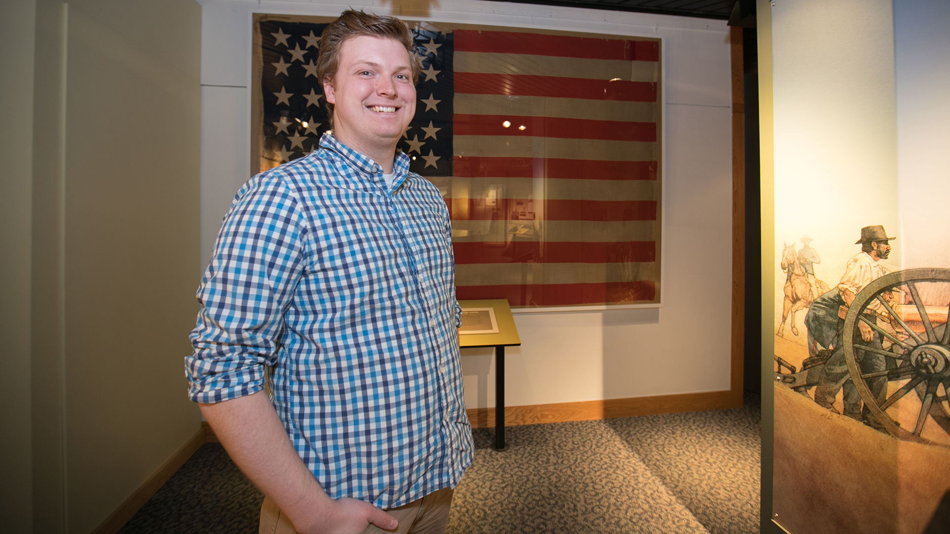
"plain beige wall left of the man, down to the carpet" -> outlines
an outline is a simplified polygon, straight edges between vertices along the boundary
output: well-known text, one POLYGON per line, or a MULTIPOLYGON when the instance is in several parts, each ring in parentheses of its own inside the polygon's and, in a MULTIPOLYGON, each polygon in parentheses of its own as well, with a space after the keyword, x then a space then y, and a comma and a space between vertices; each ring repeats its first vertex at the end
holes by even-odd
POLYGON ((85 533, 199 430, 181 358, 197 311, 200 7, 10 4, 3 412, 22 450, 4 467, 4 527, 85 533))

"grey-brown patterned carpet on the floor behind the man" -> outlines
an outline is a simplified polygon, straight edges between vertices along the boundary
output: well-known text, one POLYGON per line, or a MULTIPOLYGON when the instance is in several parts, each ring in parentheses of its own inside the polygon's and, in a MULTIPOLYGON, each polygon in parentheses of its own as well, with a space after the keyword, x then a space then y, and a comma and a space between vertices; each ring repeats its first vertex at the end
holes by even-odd
MULTIPOLYGON (((696 411, 476 429, 451 534, 746 534, 759 526, 757 397, 696 411)), ((218 444, 205 444, 122 534, 257 532, 263 496, 218 444)))

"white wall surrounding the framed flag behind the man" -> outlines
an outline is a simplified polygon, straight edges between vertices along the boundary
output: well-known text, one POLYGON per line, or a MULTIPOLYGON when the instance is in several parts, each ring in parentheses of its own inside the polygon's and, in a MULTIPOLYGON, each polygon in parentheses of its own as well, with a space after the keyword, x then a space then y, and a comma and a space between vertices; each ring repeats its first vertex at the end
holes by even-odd
MULTIPOLYGON (((515 316, 506 404, 523 406, 730 389, 731 86, 725 21, 507 2, 204 0, 201 49, 201 257, 250 168, 251 13, 413 19, 663 39, 663 307, 515 316)), ((204 265, 199 266, 200 269, 204 265)), ((490 352, 463 352, 468 408, 494 405, 490 352)))

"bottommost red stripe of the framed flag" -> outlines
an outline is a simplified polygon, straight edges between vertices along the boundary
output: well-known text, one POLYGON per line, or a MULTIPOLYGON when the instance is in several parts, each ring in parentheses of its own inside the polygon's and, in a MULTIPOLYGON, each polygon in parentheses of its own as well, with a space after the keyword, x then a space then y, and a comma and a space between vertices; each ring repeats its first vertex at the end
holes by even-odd
POLYGON ((455 295, 459 300, 507 298, 512 306, 623 304, 656 300, 656 282, 455 286, 455 295))

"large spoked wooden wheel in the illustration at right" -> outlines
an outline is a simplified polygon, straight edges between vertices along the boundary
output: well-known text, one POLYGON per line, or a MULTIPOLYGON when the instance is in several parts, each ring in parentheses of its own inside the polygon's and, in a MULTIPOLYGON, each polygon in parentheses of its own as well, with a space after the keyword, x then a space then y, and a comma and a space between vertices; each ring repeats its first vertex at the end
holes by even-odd
POLYGON ((950 439, 935 442, 922 436, 926 429, 931 438, 950 438, 948 295, 950 269, 908 269, 867 284, 845 316, 845 361, 851 379, 868 410, 902 440, 950 445, 950 439), (906 304, 894 302, 894 294, 888 293, 892 290, 902 292, 898 295, 906 304), (883 345, 864 341, 859 321, 883 345), (880 384, 882 378, 883 393, 875 398, 872 383, 880 384), (906 396, 910 391, 916 399, 906 396))

